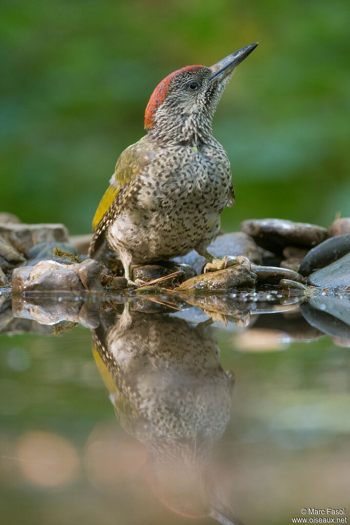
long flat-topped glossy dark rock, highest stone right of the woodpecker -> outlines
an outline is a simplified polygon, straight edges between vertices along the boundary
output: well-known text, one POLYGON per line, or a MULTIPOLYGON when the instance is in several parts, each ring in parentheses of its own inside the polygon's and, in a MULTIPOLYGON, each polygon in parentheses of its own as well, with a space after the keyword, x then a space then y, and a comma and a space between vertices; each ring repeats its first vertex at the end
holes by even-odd
POLYGON ((327 238, 327 230, 321 226, 283 219, 245 220, 240 229, 273 253, 281 253, 289 245, 311 248, 327 238))

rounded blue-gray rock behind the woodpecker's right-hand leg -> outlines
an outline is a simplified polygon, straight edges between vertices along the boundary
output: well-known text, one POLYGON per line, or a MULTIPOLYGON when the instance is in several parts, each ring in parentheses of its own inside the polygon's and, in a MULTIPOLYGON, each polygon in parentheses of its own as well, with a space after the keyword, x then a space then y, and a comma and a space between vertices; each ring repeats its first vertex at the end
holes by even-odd
MULTIPOLYGON (((236 257, 237 255, 245 255, 251 262, 261 264, 261 250, 254 242, 254 239, 242 232, 233 232, 219 235, 216 240, 208 246, 208 252, 217 258, 228 255, 229 257, 236 257)), ((196 274, 201 274, 203 267, 208 260, 197 254, 195 250, 190 251, 187 255, 176 257, 176 262, 182 262, 191 266, 196 274)))

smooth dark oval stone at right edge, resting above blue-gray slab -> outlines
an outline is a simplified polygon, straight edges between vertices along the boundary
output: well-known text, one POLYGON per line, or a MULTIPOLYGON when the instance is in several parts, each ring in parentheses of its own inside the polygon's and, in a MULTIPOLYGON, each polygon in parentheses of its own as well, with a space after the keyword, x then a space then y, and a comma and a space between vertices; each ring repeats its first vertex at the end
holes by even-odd
POLYGON ((323 241, 309 251, 301 262, 299 273, 310 275, 312 271, 323 268, 343 257, 350 251, 350 234, 338 235, 323 241))

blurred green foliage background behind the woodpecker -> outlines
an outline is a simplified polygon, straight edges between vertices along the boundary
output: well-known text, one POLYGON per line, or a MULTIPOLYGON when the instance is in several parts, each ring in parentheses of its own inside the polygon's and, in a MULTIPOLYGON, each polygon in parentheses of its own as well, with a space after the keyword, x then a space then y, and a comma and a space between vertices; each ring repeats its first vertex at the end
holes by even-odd
POLYGON ((218 107, 237 200, 222 215, 327 226, 350 213, 346 0, 8 0, 0 211, 90 231, 157 83, 259 41, 218 107))

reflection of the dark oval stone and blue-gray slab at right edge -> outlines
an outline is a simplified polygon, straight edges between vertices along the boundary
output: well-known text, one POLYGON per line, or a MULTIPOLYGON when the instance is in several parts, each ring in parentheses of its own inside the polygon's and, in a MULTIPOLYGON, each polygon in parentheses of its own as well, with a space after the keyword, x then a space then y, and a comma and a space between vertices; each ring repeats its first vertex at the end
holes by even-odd
POLYGON ((311 326, 327 335, 350 339, 350 302, 332 298, 313 298, 300 305, 300 311, 311 326))

